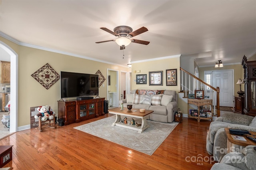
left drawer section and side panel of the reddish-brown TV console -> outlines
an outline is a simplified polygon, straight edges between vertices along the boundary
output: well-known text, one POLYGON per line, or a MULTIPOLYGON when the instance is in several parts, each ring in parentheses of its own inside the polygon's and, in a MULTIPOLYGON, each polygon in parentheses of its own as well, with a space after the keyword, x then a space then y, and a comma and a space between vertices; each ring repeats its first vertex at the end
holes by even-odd
POLYGON ((64 120, 64 125, 75 123, 76 101, 58 101, 58 119, 64 120))

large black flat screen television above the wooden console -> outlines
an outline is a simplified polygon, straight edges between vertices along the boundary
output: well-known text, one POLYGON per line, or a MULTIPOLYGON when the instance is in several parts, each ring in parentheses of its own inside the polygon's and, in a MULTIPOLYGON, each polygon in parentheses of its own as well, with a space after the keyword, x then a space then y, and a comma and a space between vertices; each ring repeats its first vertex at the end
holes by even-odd
POLYGON ((99 95, 97 74, 60 71, 60 98, 99 95))

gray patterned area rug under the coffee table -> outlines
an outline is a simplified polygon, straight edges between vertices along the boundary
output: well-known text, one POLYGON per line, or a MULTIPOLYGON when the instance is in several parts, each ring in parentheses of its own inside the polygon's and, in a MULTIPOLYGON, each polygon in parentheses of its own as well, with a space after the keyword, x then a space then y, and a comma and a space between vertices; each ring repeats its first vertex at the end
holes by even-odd
MULTIPOLYGON (((115 121, 115 119, 116 116, 107 117, 74 128, 137 150, 144 154, 152 155, 172 132, 172 130, 178 125, 176 122, 160 123, 147 120, 150 127, 144 130, 142 133, 138 133, 136 130, 117 126, 112 127, 112 123, 115 121)), ((131 121, 130 119, 131 118, 128 118, 128 122, 131 121)), ((141 123, 140 119, 134 120, 141 123)))

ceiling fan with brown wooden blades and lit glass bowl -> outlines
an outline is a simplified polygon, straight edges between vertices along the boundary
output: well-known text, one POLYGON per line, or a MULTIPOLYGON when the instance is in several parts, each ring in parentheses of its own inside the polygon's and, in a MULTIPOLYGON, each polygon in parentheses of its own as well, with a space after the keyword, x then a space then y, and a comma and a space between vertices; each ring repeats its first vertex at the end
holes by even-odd
POLYGON ((114 28, 114 32, 109 30, 108 28, 100 28, 114 36, 116 36, 116 40, 107 40, 107 41, 102 41, 102 42, 95 42, 95 43, 104 43, 104 42, 116 42, 118 45, 120 45, 120 49, 125 49, 125 46, 129 45, 131 42, 132 43, 140 43, 144 45, 148 45, 150 42, 147 41, 142 41, 142 40, 136 40, 136 39, 131 39, 132 37, 138 36, 139 34, 142 34, 148 29, 146 27, 139 28, 138 30, 135 30, 132 32, 132 28, 128 26, 118 26, 114 28))

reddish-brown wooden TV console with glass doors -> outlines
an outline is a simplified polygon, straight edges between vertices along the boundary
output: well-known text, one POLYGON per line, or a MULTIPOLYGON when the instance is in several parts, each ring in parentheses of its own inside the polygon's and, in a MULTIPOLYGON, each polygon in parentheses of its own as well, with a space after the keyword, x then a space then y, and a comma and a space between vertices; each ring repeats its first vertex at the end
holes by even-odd
POLYGON ((104 100, 103 97, 89 100, 58 101, 58 119, 62 118, 66 126, 105 115, 104 100))

